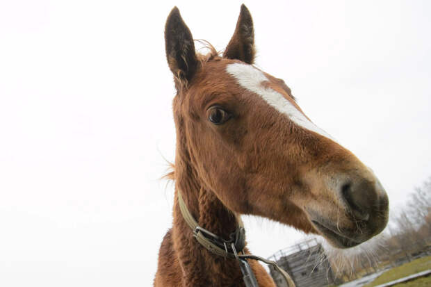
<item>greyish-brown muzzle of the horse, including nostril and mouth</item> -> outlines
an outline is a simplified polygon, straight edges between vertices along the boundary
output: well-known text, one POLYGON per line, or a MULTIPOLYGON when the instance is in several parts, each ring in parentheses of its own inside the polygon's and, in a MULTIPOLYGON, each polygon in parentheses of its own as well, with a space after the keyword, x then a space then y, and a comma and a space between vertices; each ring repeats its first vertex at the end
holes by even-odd
POLYGON ((326 186, 327 193, 335 197, 333 204, 315 202, 304 208, 316 231, 334 247, 349 248, 364 243, 387 225, 389 199, 380 181, 370 174, 332 177, 326 186))

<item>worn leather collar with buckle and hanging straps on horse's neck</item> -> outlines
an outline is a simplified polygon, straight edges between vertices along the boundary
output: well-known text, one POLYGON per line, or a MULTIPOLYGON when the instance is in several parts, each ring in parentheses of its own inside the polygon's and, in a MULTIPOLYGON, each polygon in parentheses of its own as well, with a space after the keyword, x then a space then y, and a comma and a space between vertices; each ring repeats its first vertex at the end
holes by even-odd
POLYGON ((275 261, 270 261, 252 254, 244 254, 245 229, 242 222, 238 222, 238 227, 230 234, 229 240, 225 240, 197 224, 193 215, 188 211, 186 203, 184 202, 183 197, 181 197, 181 192, 178 192, 178 204, 184 220, 186 220, 186 223, 190 229, 192 229, 193 236, 195 236, 198 243, 215 255, 222 256, 224 258, 236 259, 238 261, 246 287, 259 287, 247 259, 259 260, 268 265, 272 265, 275 270, 282 274, 288 287, 295 287, 295 283, 293 283, 291 276, 280 268, 275 261))

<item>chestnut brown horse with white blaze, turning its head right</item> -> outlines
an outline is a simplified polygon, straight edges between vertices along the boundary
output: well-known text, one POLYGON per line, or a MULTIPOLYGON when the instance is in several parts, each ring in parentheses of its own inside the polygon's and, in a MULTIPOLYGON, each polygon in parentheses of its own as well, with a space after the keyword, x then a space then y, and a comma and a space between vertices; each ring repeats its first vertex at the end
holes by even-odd
MULTIPOLYGON (((166 22, 165 48, 177 88, 174 220, 154 286, 244 286, 238 261, 194 238, 179 192, 200 226, 221 238, 237 229, 241 214, 320 234, 339 248, 384 229, 389 201, 373 172, 309 120, 284 81, 254 67, 245 6, 221 57, 214 49, 196 54, 176 7, 166 22)), ((259 263, 250 265, 259 286, 275 286, 259 263)))

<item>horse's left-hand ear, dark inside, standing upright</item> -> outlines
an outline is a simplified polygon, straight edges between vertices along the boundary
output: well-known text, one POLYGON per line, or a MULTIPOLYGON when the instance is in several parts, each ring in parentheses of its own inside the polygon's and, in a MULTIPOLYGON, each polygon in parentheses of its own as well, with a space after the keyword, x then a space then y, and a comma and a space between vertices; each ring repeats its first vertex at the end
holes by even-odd
POLYGON ((190 81, 197 67, 192 33, 174 7, 166 20, 165 49, 168 65, 179 81, 190 81))

